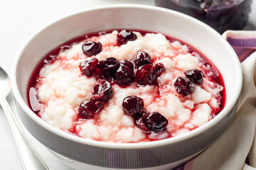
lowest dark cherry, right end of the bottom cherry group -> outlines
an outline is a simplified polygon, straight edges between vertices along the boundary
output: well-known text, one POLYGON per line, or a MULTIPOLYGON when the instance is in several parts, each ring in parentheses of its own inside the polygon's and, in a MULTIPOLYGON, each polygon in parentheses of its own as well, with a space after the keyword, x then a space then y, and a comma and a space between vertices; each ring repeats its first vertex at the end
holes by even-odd
POLYGON ((146 128, 149 128, 149 130, 151 130, 151 132, 158 133, 166 130, 168 120, 164 117, 164 115, 161 115, 157 112, 153 112, 143 119, 143 123, 144 125, 146 125, 146 128))

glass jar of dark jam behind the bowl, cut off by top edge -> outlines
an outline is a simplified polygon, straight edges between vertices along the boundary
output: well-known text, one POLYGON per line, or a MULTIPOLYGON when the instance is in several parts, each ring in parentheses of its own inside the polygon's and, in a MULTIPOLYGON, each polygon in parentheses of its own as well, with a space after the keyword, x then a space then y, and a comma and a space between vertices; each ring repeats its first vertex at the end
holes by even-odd
POLYGON ((156 6, 198 18, 219 33, 244 28, 251 4, 252 0, 156 0, 156 6))

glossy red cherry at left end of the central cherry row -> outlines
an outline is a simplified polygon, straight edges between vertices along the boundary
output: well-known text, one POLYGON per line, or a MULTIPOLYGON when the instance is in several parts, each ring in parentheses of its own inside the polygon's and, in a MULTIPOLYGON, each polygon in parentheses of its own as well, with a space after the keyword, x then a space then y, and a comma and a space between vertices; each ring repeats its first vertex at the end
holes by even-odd
POLYGON ((85 60, 80 63, 80 71, 82 75, 90 77, 92 73, 94 73, 99 64, 99 60, 97 58, 92 58, 91 60, 85 60))

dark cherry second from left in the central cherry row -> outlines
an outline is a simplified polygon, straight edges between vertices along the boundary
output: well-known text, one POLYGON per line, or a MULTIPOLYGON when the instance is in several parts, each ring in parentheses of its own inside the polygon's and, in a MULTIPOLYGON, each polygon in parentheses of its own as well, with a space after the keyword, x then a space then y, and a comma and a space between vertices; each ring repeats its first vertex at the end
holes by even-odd
POLYGON ((114 57, 106 58, 105 60, 101 60, 99 62, 98 68, 102 72, 102 75, 106 78, 114 78, 115 72, 120 67, 119 62, 114 57))

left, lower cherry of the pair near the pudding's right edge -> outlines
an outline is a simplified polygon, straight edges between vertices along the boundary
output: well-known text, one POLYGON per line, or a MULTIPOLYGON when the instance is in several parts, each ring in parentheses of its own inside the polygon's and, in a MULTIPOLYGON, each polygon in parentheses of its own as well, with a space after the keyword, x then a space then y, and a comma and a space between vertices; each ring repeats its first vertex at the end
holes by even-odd
POLYGON ((177 77, 174 86, 176 91, 183 96, 192 94, 196 90, 196 85, 186 77, 177 77))

